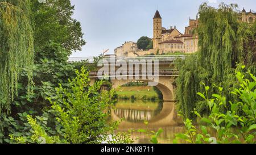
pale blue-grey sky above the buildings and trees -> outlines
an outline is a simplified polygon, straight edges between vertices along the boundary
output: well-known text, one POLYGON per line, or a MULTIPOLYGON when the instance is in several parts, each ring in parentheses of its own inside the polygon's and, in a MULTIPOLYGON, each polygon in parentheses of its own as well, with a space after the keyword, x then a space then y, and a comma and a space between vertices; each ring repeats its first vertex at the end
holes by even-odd
POLYGON ((75 5, 73 18, 81 22, 86 45, 72 57, 98 56, 125 41, 137 42, 139 37, 152 38, 152 22, 156 10, 162 16, 162 26, 176 26, 184 33, 189 17, 196 18, 201 3, 217 7, 220 2, 237 3, 240 10, 255 10, 255 0, 71 0, 75 5))

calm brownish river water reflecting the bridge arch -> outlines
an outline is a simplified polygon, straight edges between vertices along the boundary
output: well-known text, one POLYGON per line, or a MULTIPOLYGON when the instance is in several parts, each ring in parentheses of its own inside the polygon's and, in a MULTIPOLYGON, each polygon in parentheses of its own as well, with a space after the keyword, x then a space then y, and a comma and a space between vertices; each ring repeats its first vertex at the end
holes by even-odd
MULTIPOLYGON (((144 120, 148 122, 148 128, 158 131, 162 128, 164 132, 159 136, 159 143, 170 144, 175 138, 175 133, 184 131, 181 118, 177 116, 174 102, 143 102, 142 100, 118 100, 112 110, 112 120, 124 120, 119 124, 119 131, 129 129, 146 129, 144 120)), ((150 143, 150 136, 146 133, 133 132, 131 135, 135 143, 150 143)))

